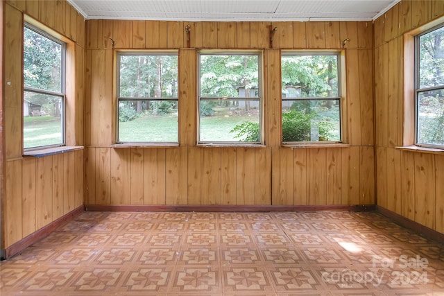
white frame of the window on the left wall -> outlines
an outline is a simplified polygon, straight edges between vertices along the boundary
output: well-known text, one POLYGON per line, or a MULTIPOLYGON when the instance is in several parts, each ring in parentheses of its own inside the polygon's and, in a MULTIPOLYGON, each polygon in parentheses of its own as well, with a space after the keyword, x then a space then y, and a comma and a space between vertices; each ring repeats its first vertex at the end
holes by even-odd
MULTIPOLYGON (((66 134, 67 134, 67 130, 66 130, 66 116, 67 116, 67 43, 60 40, 58 37, 55 37, 53 35, 51 35, 50 33, 47 33, 46 31, 43 31, 42 29, 38 28, 37 26, 34 26, 33 24, 29 23, 28 21, 24 21, 23 24, 23 30, 25 30, 25 28, 28 28, 28 30, 34 31, 35 33, 42 35, 43 37, 46 37, 47 39, 51 40, 54 43, 60 44, 61 46, 61 64, 60 64, 60 92, 54 92, 54 91, 50 91, 50 90, 46 90, 46 89, 38 89, 35 87, 28 87, 25 85, 25 81, 23 80, 23 100, 22 100, 22 104, 24 103, 24 93, 25 92, 32 92, 32 93, 36 93, 36 94, 46 94, 49 96, 58 96, 60 97, 62 100, 62 106, 60 107, 60 112, 62 113, 61 116, 61 125, 62 125, 62 134, 61 134, 61 143, 56 143, 56 144, 51 144, 51 145, 44 145, 44 146, 33 146, 33 147, 28 147, 25 148, 24 147, 24 134, 22 135, 23 137, 23 150, 24 153, 30 152, 30 151, 34 151, 34 150, 42 150, 42 149, 50 149, 50 148, 56 148, 56 147, 62 147, 62 146, 66 146, 66 134)), ((23 31, 24 32, 24 31, 23 31)), ((24 40, 23 40, 24 42, 24 40)), ((24 51, 23 51, 24 54, 24 51)), ((23 77, 23 74, 22 74, 23 77)), ((24 122, 24 114, 22 112, 22 123, 24 122)), ((24 130, 24 125, 22 127, 22 132, 24 130)))

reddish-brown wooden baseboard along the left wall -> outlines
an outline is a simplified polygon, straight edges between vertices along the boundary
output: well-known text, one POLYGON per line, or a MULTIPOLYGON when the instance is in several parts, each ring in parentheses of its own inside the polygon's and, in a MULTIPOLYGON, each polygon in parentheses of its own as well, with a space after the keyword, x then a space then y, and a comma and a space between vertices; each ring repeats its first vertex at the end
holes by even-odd
POLYGON ((44 238, 45 236, 48 236, 58 227, 67 223, 67 221, 72 220, 74 217, 78 216, 82 212, 83 212, 83 206, 80 206, 70 211, 68 214, 58 218, 57 220, 54 220, 48 225, 38 229, 36 232, 33 232, 32 234, 26 236, 25 238, 22 238, 20 241, 17 241, 17 243, 13 243, 9 247, 6 247, 4 258, 2 259, 8 259, 14 256, 15 254, 19 254, 19 252, 22 252, 22 250, 24 250, 29 245, 32 245, 33 243, 44 238))

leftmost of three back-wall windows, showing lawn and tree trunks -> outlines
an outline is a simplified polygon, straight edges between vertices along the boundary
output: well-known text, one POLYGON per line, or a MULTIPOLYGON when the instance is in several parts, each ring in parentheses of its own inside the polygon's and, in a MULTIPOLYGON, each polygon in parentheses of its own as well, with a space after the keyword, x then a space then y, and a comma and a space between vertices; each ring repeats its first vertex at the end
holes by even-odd
POLYGON ((117 142, 178 142, 178 54, 117 54, 117 142))

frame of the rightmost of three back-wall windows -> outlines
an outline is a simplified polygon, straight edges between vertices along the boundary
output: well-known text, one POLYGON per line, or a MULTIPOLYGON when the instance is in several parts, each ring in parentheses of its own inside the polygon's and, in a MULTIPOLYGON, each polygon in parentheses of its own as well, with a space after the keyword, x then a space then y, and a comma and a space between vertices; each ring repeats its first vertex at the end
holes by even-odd
POLYGON ((345 110, 345 106, 343 106, 343 96, 345 92, 345 87, 343 83, 345 82, 345 77, 343 77, 343 51, 335 51, 335 50, 304 50, 304 51, 282 51, 281 53, 281 106, 284 101, 338 101, 339 102, 339 140, 337 141, 284 141, 283 135, 282 135, 282 110, 281 110, 281 136, 280 141, 282 142, 282 146, 300 146, 300 145, 321 145, 321 146, 327 146, 331 144, 338 144, 338 143, 344 143, 344 119, 343 119, 343 113, 345 110), (337 96, 327 96, 327 97, 289 97, 287 96, 284 98, 282 96, 282 57, 285 55, 336 55, 336 69, 337 69, 337 89, 338 94, 337 96))

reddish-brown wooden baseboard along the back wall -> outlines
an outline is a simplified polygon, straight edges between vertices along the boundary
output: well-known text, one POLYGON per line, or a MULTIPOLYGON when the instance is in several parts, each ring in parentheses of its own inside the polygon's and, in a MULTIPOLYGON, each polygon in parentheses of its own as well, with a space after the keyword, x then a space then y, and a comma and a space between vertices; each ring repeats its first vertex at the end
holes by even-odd
POLYGON ((374 204, 364 205, 125 205, 125 204, 85 204, 85 211, 374 211, 374 204))

